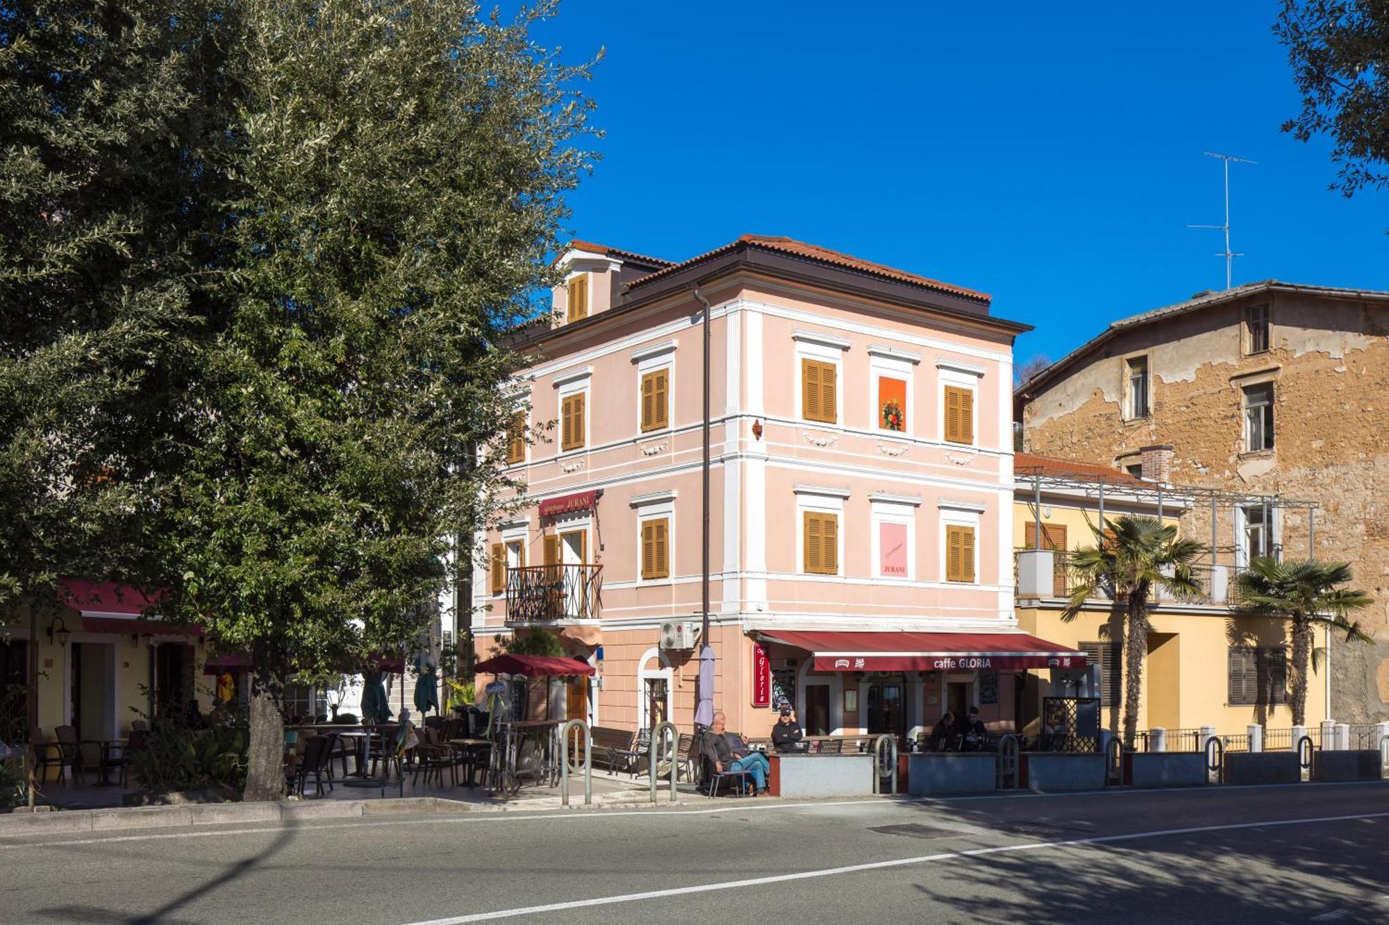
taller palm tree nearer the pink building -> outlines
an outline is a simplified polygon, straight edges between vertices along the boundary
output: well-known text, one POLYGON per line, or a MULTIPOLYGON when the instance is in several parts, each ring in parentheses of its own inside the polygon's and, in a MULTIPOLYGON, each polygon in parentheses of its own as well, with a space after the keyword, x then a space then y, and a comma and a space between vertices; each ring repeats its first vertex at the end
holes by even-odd
POLYGON ((1138 735, 1138 703, 1143 689, 1143 661, 1147 657, 1147 608, 1153 589, 1174 597, 1199 594, 1192 562, 1206 554, 1196 540, 1178 539, 1175 525, 1153 517, 1125 515, 1106 521, 1107 528, 1090 526, 1095 546, 1071 554, 1075 590, 1061 611, 1071 621, 1085 601, 1100 589, 1111 592, 1122 607, 1124 647, 1124 747, 1133 747, 1138 735))

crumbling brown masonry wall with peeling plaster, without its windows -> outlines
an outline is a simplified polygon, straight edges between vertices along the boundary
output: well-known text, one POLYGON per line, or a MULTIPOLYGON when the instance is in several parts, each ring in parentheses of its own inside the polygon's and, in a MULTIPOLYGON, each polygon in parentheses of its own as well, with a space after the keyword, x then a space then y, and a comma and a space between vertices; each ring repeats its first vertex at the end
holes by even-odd
MULTIPOLYGON (((1175 483, 1320 501, 1317 558, 1351 562, 1356 585, 1376 599, 1361 617, 1376 643, 1332 643, 1332 714, 1389 718, 1389 308, 1281 294, 1272 349, 1257 356, 1240 353, 1242 310, 1170 318, 1110 342, 1104 356, 1029 397, 1025 446, 1086 462, 1142 458, 1146 467, 1143 447, 1167 443, 1175 483), (1121 364, 1135 353, 1149 356, 1151 414, 1124 421, 1121 364), (1257 381, 1274 382, 1275 449, 1245 453, 1240 386, 1257 381)), ((1306 558, 1306 510, 1279 517, 1283 557, 1306 558)), ((1208 543, 1208 507, 1186 519, 1188 535, 1208 543)), ((1233 512, 1218 511, 1217 528, 1218 561, 1229 564, 1233 512)))

